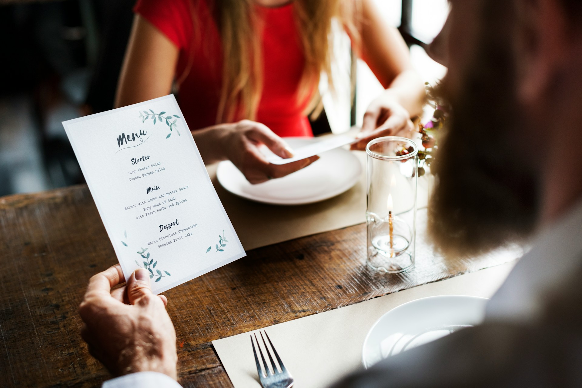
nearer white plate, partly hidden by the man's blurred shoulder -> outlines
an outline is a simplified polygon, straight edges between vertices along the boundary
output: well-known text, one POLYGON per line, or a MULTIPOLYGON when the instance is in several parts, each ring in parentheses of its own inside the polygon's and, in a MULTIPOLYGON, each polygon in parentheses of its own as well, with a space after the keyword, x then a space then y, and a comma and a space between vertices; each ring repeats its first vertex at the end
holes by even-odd
POLYGON ((414 300, 382 315, 368 332, 364 368, 483 321, 487 298, 447 295, 414 300))

